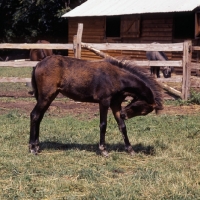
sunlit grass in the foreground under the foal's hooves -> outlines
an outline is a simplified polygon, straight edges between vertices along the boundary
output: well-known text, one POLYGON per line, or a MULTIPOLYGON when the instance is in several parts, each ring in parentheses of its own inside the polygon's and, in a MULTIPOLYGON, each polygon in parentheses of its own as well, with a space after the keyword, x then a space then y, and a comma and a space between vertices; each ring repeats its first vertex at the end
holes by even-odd
POLYGON ((98 118, 46 113, 33 156, 29 113, 0 114, 0 199, 200 199, 200 115, 128 120, 135 157, 109 115, 108 158, 99 155, 98 118))

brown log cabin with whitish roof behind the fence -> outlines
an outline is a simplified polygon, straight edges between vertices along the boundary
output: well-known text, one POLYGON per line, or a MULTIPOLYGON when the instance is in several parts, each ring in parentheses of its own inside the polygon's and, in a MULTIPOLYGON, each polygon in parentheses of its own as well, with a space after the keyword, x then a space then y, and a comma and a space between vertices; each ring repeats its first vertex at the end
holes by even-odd
MULTIPOLYGON (((83 23, 86 43, 176 43, 192 40, 200 45, 200 0, 87 0, 63 15, 68 20, 68 42, 73 42, 78 23, 83 23)), ((142 51, 106 51, 111 56, 145 60, 142 51)), ((73 56, 73 52, 68 52, 73 56)), ((179 52, 167 52, 170 60, 180 60, 179 52)), ((100 59, 82 50, 82 59, 100 59)), ((198 53, 193 53, 193 59, 198 53)))

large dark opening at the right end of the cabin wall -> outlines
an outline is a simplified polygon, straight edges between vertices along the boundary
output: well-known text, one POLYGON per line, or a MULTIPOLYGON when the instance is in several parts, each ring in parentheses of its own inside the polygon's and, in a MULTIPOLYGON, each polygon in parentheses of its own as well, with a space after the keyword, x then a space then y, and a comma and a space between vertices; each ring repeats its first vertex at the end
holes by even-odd
POLYGON ((175 13, 174 14, 174 38, 193 39, 195 30, 194 13, 175 13))

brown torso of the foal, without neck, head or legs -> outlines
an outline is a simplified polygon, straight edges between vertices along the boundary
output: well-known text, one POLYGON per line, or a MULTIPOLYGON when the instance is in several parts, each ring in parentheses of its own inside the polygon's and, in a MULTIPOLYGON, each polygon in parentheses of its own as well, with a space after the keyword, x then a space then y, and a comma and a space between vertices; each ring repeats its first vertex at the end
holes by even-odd
POLYGON ((35 69, 41 92, 57 91, 79 101, 98 102, 120 91, 127 73, 106 61, 84 61, 50 56, 35 69))

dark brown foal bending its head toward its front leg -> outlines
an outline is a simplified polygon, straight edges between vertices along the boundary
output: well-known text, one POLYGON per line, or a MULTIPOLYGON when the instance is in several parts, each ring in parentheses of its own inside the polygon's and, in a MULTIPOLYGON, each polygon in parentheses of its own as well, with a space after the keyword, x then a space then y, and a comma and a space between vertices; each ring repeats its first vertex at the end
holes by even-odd
POLYGON ((99 104, 99 149, 105 156, 108 155, 105 133, 109 108, 123 135, 125 149, 131 154, 134 151, 124 120, 163 108, 161 88, 151 75, 131 63, 112 59, 84 61, 59 55, 47 57, 33 70, 32 86, 37 103, 30 114, 29 148, 34 154, 39 150, 40 122, 58 93, 76 101, 99 104), (122 107, 127 96, 133 100, 122 107))

